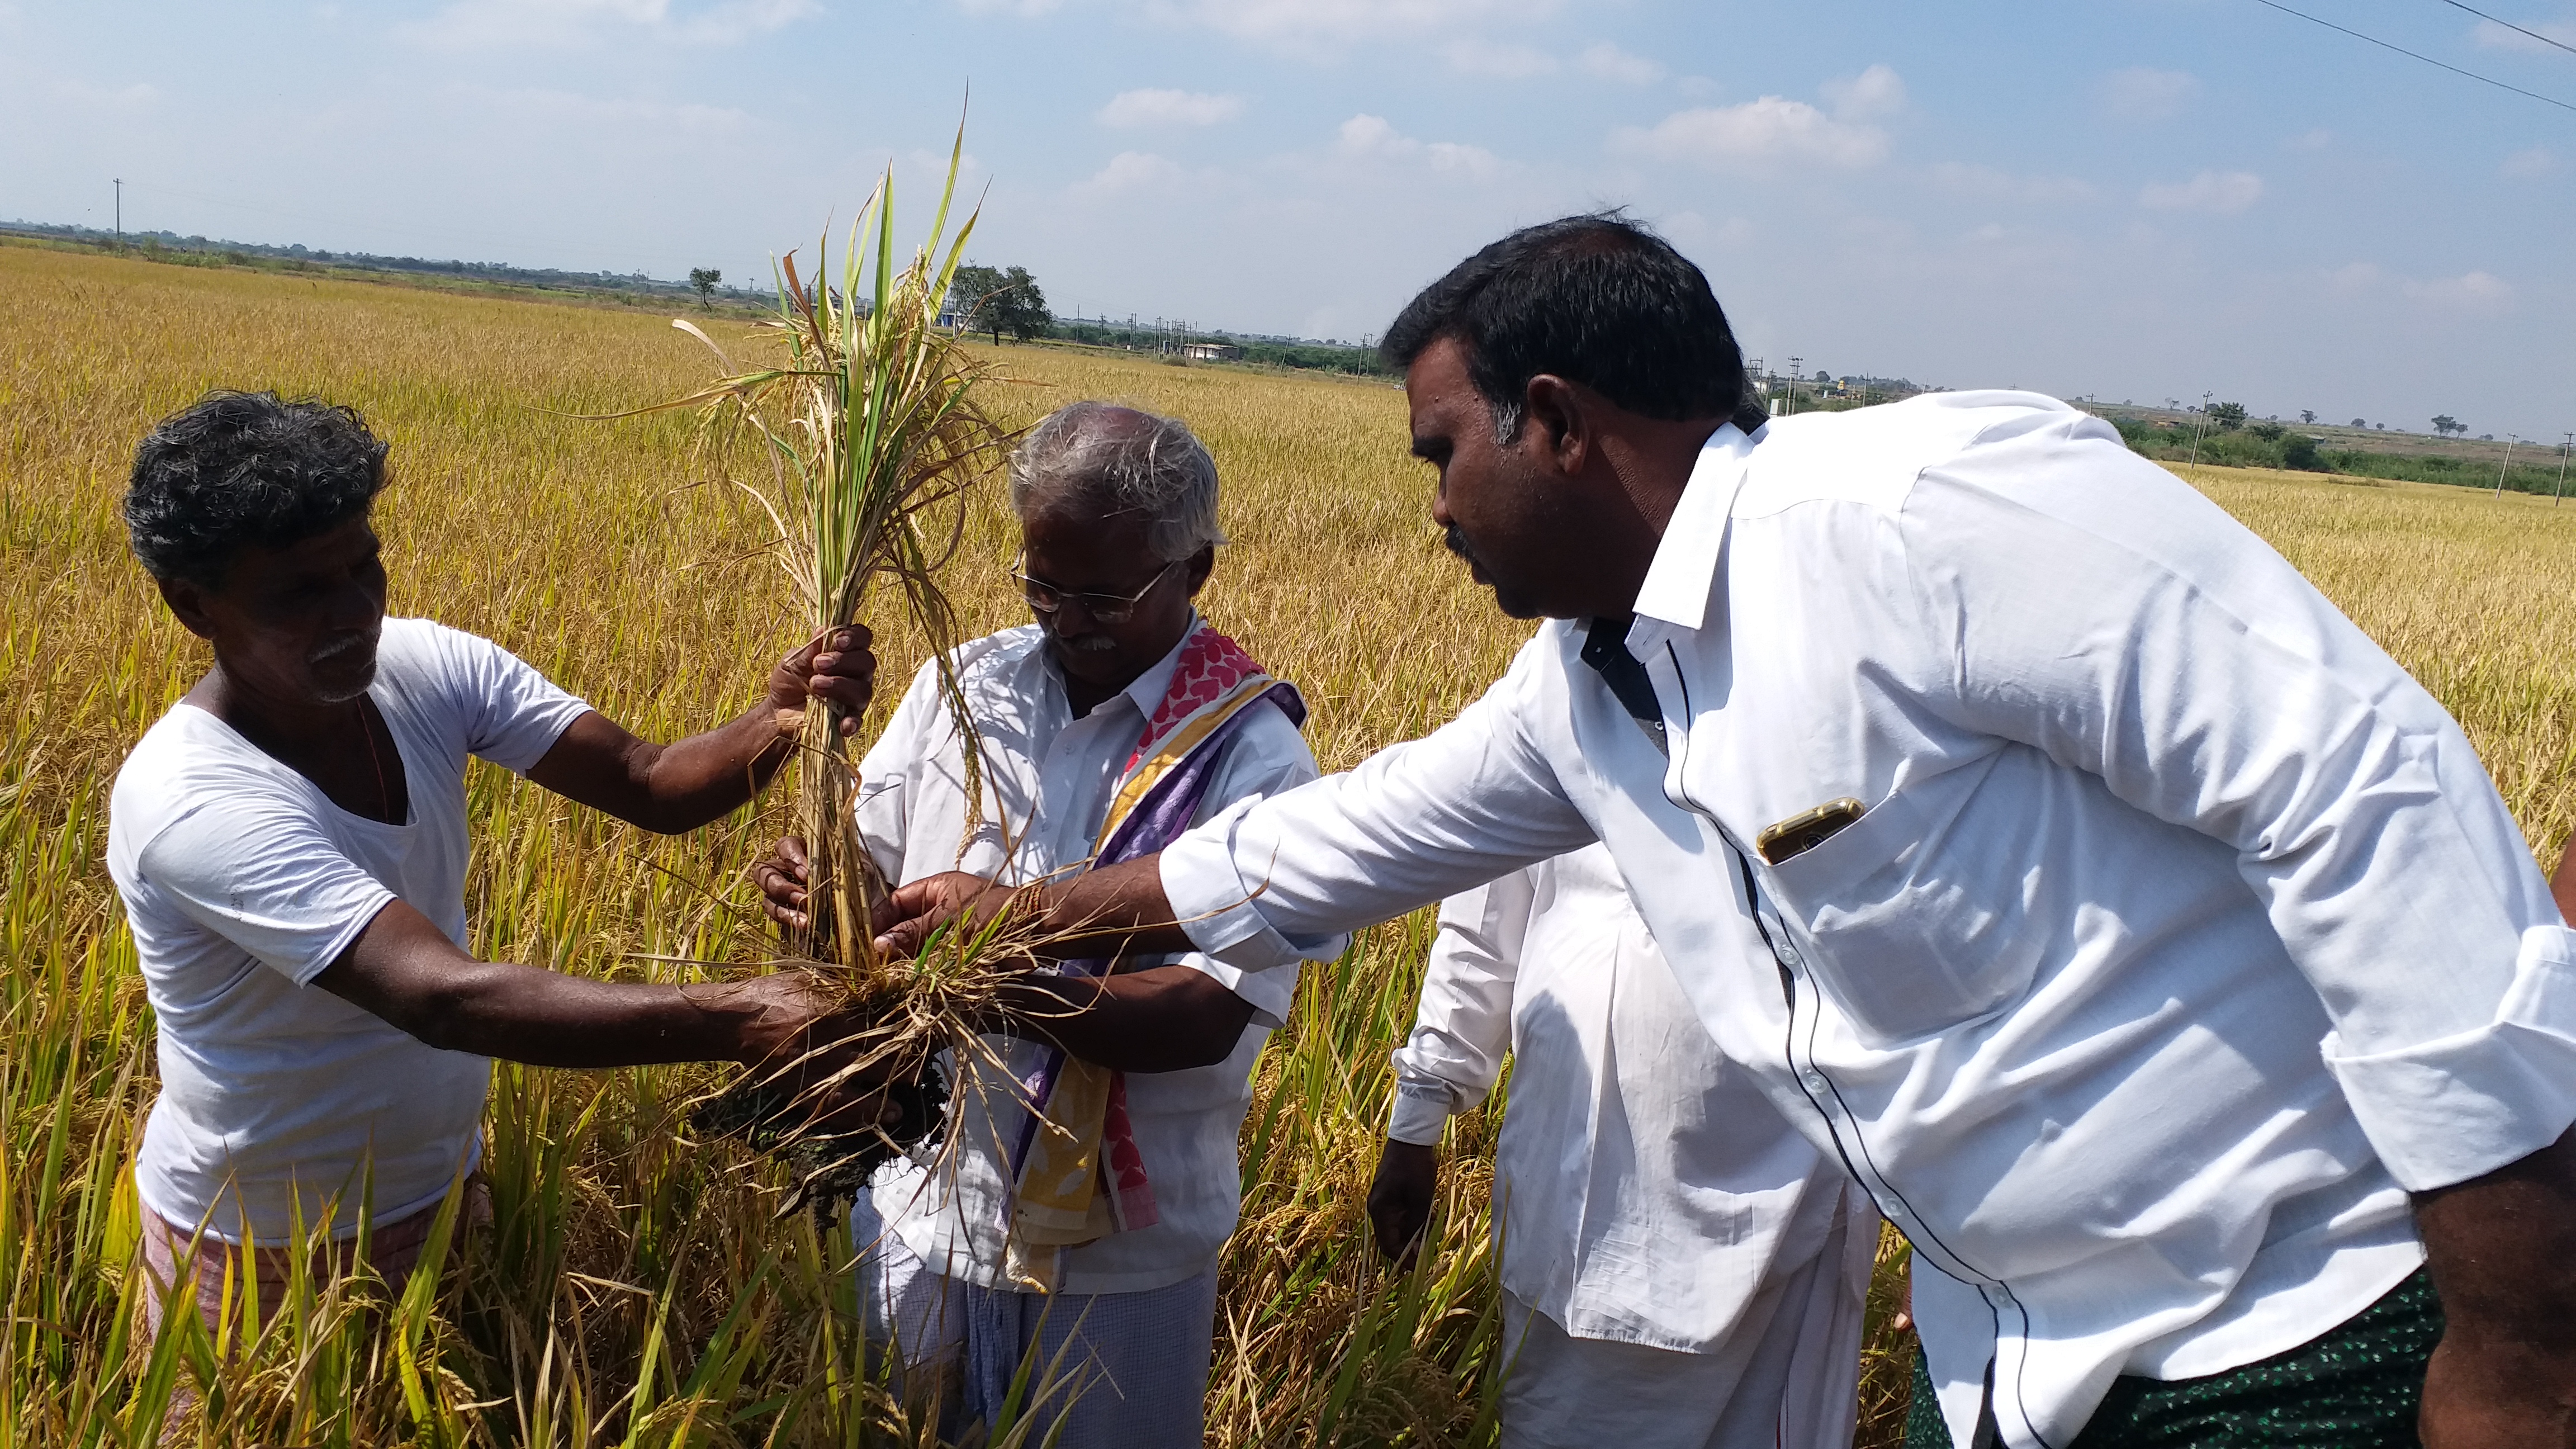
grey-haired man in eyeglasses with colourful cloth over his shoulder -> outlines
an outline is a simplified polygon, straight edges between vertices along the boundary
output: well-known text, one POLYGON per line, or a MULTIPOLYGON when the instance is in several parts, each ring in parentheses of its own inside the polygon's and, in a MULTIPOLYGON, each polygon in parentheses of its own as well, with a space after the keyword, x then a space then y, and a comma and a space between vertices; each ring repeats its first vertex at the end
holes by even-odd
MULTIPOLYGON (((860 763, 858 828, 886 879, 1038 882, 1316 776, 1296 688, 1190 603, 1224 534, 1216 462, 1182 423, 1064 407, 1012 456, 1010 500, 1036 624, 953 660, 981 812, 925 665, 860 763)), ((781 841, 755 871, 783 926, 804 923, 804 866, 781 841)), ((984 1060, 948 1062, 948 1150, 894 1163, 853 1209, 871 1336, 894 1341, 907 1392, 945 1400, 948 1436, 992 1423, 1033 1359, 1030 1385, 1079 1390, 1056 1444, 1198 1449, 1234 1140, 1293 995, 1293 962, 1066 962, 1020 982, 984 1060)))

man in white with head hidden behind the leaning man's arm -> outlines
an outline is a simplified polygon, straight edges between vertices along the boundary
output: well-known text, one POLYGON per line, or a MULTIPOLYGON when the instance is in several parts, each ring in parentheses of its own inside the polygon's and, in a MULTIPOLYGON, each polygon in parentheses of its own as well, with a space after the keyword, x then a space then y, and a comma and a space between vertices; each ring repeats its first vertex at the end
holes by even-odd
POLYGON ((1850 1444, 1878 1209, 1718 1055, 1602 846, 1440 905, 1368 1191, 1388 1256, 1504 1049, 1504 1449, 1850 1444))

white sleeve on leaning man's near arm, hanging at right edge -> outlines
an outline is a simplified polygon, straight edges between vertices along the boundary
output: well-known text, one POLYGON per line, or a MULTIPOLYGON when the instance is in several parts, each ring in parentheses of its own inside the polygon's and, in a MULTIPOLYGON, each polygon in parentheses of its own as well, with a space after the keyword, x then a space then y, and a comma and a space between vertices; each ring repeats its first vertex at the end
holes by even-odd
POLYGON ((2298 570, 2092 423, 1927 472, 1901 534, 1965 722, 2233 846, 2398 1183, 2576 1122, 2576 936, 2460 727, 2298 570))

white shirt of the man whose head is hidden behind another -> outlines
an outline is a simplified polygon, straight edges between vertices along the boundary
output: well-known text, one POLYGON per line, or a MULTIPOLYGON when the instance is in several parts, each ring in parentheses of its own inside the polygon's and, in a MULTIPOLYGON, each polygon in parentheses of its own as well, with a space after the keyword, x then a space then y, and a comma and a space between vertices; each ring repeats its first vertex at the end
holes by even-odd
POLYGON ((1504 1049, 1502 1287, 1569 1336, 1713 1354, 1832 1235, 1842 1163, 1718 1055, 1602 846, 1440 902, 1386 1134, 1440 1142, 1504 1049))

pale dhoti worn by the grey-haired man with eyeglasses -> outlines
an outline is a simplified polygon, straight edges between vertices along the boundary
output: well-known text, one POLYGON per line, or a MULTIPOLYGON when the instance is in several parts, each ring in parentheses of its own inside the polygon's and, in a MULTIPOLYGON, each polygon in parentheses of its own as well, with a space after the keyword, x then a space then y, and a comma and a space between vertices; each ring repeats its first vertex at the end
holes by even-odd
POLYGON ((860 1248, 868 1341, 894 1348, 907 1392, 940 1395, 940 1439, 992 1423, 1028 1361, 1020 1415, 1028 1418, 1030 1397, 1046 1395, 1030 1444, 1200 1449, 1216 1341, 1213 1266, 1131 1294, 987 1289, 922 1263, 886 1232, 866 1194, 850 1209, 850 1240, 860 1248))

